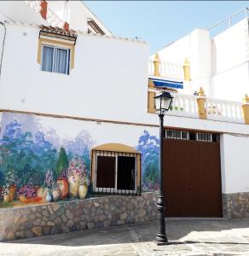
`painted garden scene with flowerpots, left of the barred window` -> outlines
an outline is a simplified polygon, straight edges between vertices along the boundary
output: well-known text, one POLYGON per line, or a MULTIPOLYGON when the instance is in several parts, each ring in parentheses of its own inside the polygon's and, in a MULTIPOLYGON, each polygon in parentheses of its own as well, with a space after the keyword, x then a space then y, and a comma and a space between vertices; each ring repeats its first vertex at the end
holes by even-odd
MULTIPOLYGON (((33 119, 36 125, 33 116, 28 119, 33 119)), ((23 128, 21 121, 10 120, 1 136, 0 206, 84 199, 90 185, 88 134, 78 136, 78 141, 84 140, 83 148, 67 141, 66 151, 63 147, 55 148, 42 131, 35 132, 34 127, 32 131, 24 131, 23 128)))

